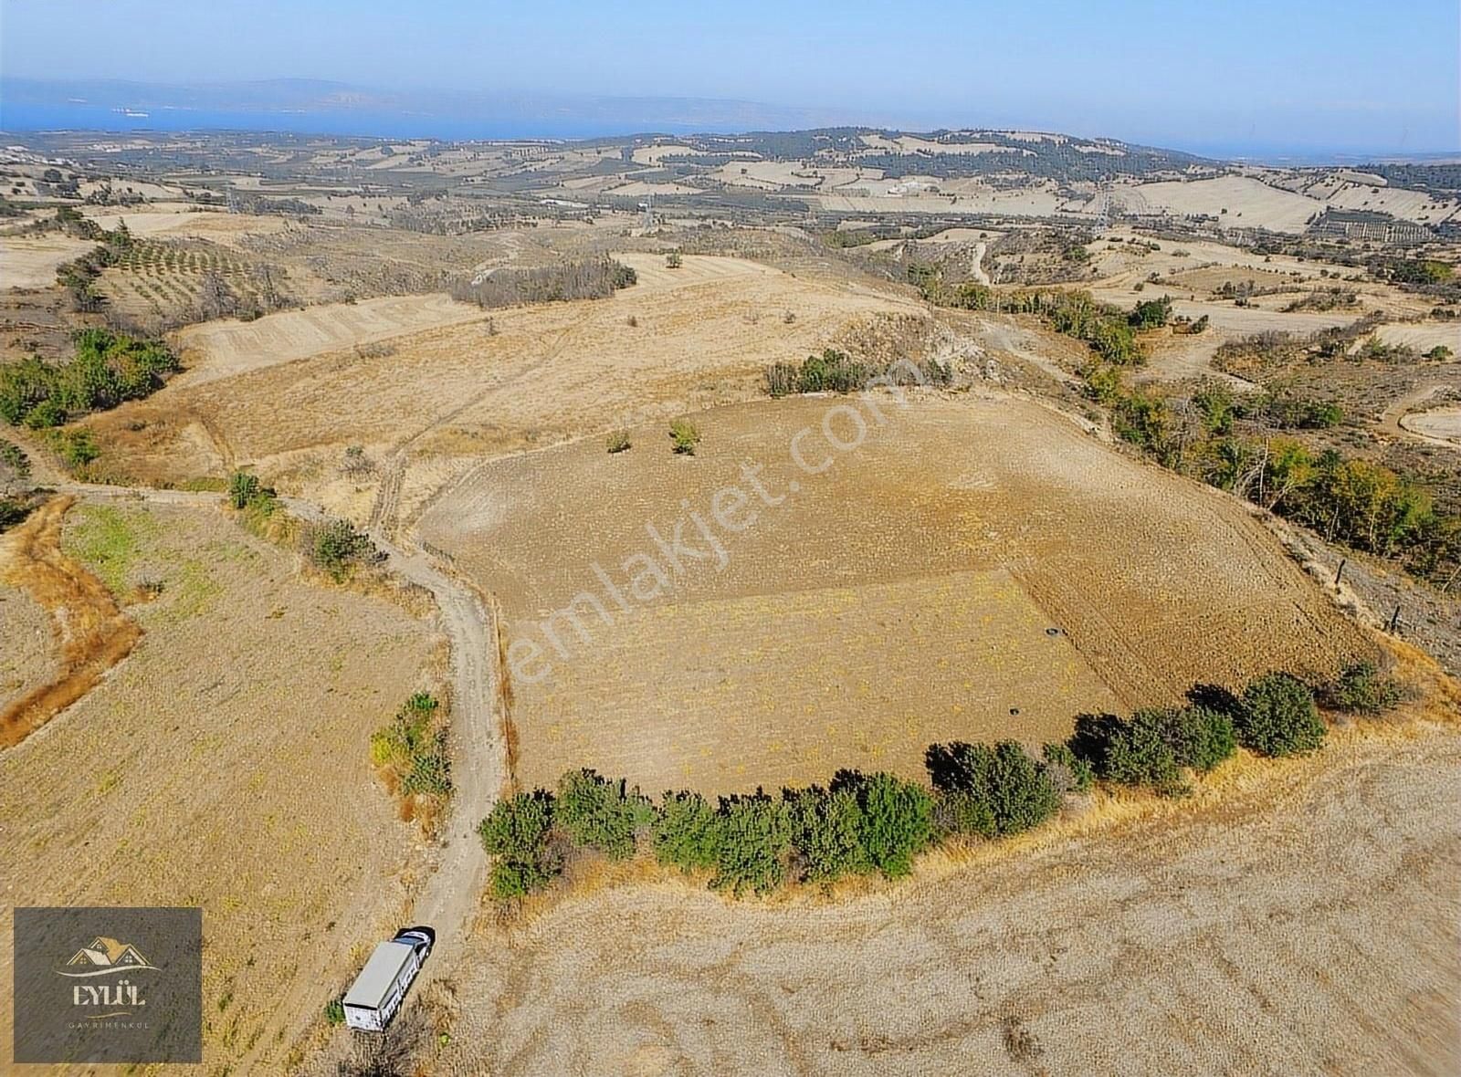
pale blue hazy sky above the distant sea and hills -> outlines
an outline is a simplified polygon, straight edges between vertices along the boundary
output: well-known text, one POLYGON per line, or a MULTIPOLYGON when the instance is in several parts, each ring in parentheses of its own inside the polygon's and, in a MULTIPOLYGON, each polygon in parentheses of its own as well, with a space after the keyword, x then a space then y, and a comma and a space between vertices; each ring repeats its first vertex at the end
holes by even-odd
POLYGON ((0 0, 12 77, 738 98, 1179 147, 1461 149, 1457 0, 0 0))

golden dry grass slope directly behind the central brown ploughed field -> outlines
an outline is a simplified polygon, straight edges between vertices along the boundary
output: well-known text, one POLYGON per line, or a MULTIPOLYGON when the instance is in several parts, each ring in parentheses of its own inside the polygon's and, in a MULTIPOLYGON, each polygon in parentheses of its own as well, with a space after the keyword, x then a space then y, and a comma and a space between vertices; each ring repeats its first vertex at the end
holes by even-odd
MULTIPOLYGON (((213 381, 215 359, 200 347, 194 374, 92 425, 140 479, 183 482, 254 463, 327 499, 337 492, 321 483, 346 445, 381 460, 409 444, 413 463, 428 458, 408 482, 409 506, 472 457, 745 398, 766 363, 801 360, 856 318, 918 309, 741 258, 687 255, 668 270, 662 255, 621 257, 641 283, 611 299, 492 311, 491 325, 453 304, 440 312, 473 320, 393 337, 392 347, 354 349, 337 334, 336 350, 213 381)), ((308 315, 281 318, 308 325, 308 315)), ((343 315, 316 321, 345 324, 343 315)))

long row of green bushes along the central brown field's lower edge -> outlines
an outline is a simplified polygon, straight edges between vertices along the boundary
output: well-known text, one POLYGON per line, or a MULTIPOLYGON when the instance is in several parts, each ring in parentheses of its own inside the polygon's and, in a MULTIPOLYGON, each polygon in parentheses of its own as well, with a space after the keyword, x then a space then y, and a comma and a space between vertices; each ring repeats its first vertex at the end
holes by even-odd
MULTIPOLYGON (((1360 714, 1398 702, 1398 687, 1365 664, 1324 692, 1331 706, 1360 714)), ((656 803, 625 779, 570 771, 555 791, 506 797, 481 822, 482 845, 495 858, 491 892, 510 899, 542 890, 584 849, 627 860, 647 848, 666 867, 710 873, 713 889, 736 896, 787 880, 896 879, 948 838, 993 839, 1039 826, 1067 794, 1097 781, 1182 795, 1188 773, 1211 771, 1239 744, 1289 756, 1324 741, 1313 692, 1286 673, 1258 677, 1240 695, 1199 686, 1189 698, 1186 706, 1129 718, 1083 715, 1069 740, 1046 744, 1039 757, 1017 741, 932 744, 925 754, 932 788, 840 771, 825 787, 779 797, 757 790, 713 806, 693 791, 656 803)))

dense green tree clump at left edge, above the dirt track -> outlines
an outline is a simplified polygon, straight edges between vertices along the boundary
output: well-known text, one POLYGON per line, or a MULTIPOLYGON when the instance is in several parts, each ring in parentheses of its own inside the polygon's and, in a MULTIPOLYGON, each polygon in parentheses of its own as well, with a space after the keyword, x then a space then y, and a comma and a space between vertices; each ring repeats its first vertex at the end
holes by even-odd
POLYGON ((159 340, 137 340, 104 328, 79 330, 64 363, 31 355, 0 366, 0 419, 32 429, 60 426, 88 412, 150 395, 178 369, 159 340))

